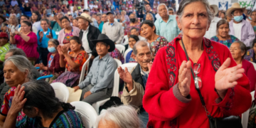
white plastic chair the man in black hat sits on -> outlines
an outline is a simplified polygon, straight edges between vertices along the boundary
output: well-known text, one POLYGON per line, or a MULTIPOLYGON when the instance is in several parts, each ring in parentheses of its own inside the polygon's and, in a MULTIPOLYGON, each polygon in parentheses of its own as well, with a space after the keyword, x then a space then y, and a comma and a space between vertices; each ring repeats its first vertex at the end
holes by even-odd
MULTIPOLYGON (((117 60, 116 58, 114 58, 114 60, 116 60, 116 62, 117 62, 117 67, 119 67, 120 65, 122 65, 122 62, 121 62, 120 60, 117 60)), ((114 76, 115 76, 116 73, 117 73, 117 70, 115 70, 114 76)), ((117 73, 117 74, 118 74, 118 73, 117 73)), ((114 77, 114 81, 115 81, 115 79, 116 79, 116 77, 114 77)), ((118 90, 119 90, 119 78, 118 78, 118 84, 114 84, 114 85, 113 85, 113 92, 112 92, 112 95, 111 95, 111 96, 112 96, 112 97, 113 97, 113 96, 118 97, 118 90)), ((97 114, 99 114, 99 108, 100 108, 100 106, 103 105, 103 104, 105 104, 105 102, 107 102, 107 100, 110 100, 110 98, 107 98, 107 99, 105 99, 105 100, 100 100, 100 101, 95 102, 95 103, 92 104, 92 107, 95 108, 97 114)))

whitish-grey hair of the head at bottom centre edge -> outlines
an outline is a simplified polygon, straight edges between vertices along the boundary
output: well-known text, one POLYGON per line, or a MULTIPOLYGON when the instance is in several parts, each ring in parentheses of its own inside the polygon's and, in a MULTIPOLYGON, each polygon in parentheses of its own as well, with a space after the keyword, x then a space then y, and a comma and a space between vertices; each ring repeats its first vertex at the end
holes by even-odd
POLYGON ((114 124, 122 128, 142 128, 142 121, 139 119, 134 107, 130 105, 108 108, 106 112, 97 117, 96 127, 98 127, 99 122, 106 124, 107 121, 114 122, 114 124))

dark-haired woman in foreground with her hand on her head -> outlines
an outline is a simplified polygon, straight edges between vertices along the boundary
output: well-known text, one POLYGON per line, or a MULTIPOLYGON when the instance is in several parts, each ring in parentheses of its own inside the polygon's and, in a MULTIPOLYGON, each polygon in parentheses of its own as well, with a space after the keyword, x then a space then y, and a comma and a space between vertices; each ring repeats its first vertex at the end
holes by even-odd
POLYGON ((84 127, 75 107, 60 102, 53 87, 43 80, 18 85, 4 127, 84 127), (19 112, 25 117, 17 120, 19 112))

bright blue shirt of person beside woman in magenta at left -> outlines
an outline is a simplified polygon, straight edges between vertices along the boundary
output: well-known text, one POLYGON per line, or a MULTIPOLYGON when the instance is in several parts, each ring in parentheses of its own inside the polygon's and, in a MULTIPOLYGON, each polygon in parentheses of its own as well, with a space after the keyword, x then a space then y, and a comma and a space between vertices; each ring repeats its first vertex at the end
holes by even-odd
MULTIPOLYGON (((36 33, 37 34, 37 38, 38 38, 38 47, 40 47, 40 48, 48 48, 48 41, 50 40, 50 38, 47 38, 46 36, 50 34, 50 28, 48 28, 48 31, 47 31, 46 34, 43 33, 42 42, 39 41, 40 40, 39 33, 41 31, 43 31, 43 29, 41 29, 40 31, 38 31, 38 33, 36 33)), ((51 34, 52 34, 53 38, 58 39, 57 36, 56 36, 55 31, 52 30, 51 34)))

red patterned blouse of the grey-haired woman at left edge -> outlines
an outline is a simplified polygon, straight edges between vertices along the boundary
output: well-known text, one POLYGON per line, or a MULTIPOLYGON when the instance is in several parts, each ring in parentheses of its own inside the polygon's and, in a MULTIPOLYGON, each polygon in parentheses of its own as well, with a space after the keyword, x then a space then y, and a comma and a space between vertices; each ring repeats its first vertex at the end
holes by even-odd
MULTIPOLYGON (((16 87, 11 87, 8 92, 6 92, 6 94, 4 95, 4 102, 1 106, 1 114, 4 115, 4 117, 7 116, 10 108, 11 108, 11 102, 12 99, 14 97, 14 90, 16 89, 16 87)), ((22 111, 18 112, 18 117, 16 119, 16 121, 20 121, 21 119, 23 119, 23 117, 25 117, 26 114, 24 114, 22 111)), ((16 123, 16 127, 17 127, 17 123, 16 123)))

